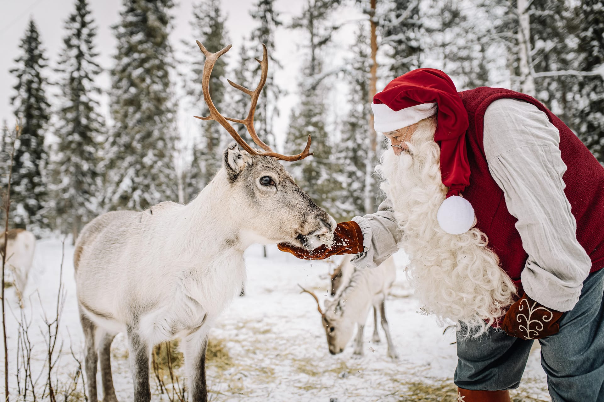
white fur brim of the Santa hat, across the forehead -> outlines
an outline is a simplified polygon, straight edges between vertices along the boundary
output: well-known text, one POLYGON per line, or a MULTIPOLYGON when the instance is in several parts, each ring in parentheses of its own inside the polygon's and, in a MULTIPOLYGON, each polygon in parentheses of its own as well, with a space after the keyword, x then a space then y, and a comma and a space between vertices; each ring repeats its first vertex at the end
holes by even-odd
POLYGON ((384 103, 372 103, 374 124, 379 133, 398 130, 410 124, 419 122, 436 113, 436 103, 422 103, 401 110, 394 111, 384 103))

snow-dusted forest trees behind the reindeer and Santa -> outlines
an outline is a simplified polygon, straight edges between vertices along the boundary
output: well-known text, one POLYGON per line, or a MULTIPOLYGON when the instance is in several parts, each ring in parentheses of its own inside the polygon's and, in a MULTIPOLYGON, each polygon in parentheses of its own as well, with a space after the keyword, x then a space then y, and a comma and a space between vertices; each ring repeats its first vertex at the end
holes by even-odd
MULTIPOLYGON (((248 99, 226 78, 253 86, 259 78, 260 44, 274 54, 276 34, 294 31, 300 60, 298 102, 289 112, 285 153, 298 152, 312 134, 315 156, 294 163, 291 172, 336 219, 372 212, 379 203, 373 174, 382 149, 370 129, 370 99, 376 84, 419 67, 439 68, 458 90, 498 86, 536 96, 604 162, 604 10, 597 0, 308 0, 284 20, 272 0, 254 3, 255 26, 245 46, 232 49, 213 71, 214 102, 226 116, 241 118, 248 99), (365 18, 336 19, 341 7, 365 18), (355 25, 354 43, 338 65, 330 53, 333 34, 355 25), (373 38, 373 43, 372 43, 373 38), (375 61, 373 61, 375 60, 375 61), (372 71, 374 67, 374 71, 372 71), (336 115, 327 104, 341 91, 347 105, 336 115), (345 112, 342 112, 345 110, 345 112)), ((170 39, 170 0, 124 1, 112 27, 109 118, 95 78, 101 69, 95 50, 95 18, 79 0, 65 17, 63 49, 47 54, 31 19, 14 60, 10 96, 14 119, 2 124, 2 171, 7 169, 16 122, 11 227, 37 234, 77 236, 86 222, 115 209, 145 209, 160 201, 187 203, 211 180, 231 137, 216 122, 199 122, 191 140, 178 119, 200 115, 204 56, 191 40, 177 60, 170 39), (191 46, 193 45, 193 46, 191 46), (57 79, 50 82, 51 70, 57 79), (60 91, 50 95, 52 86, 60 91), (182 96, 179 95, 182 93, 182 96), (187 110, 179 117, 179 107, 187 110)), ((200 1, 191 12, 190 36, 210 51, 230 43, 228 2, 200 1)), ((269 76, 255 117, 259 136, 275 143, 273 122, 284 95, 274 73, 282 60, 270 58, 269 76)), ((245 129, 240 127, 244 136, 245 129)), ((5 186, 7 175, 2 175, 5 186)))

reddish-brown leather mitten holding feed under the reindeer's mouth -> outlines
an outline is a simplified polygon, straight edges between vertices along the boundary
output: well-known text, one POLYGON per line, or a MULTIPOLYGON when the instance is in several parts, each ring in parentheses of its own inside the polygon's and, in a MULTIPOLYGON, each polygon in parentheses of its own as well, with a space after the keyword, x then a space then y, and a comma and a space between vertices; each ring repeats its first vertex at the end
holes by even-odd
POLYGON ((341 254, 356 254, 363 251, 363 233, 355 221, 340 222, 333 231, 333 243, 327 247, 322 245, 315 250, 306 250, 288 243, 277 245, 279 250, 287 251, 303 260, 323 260, 341 254))

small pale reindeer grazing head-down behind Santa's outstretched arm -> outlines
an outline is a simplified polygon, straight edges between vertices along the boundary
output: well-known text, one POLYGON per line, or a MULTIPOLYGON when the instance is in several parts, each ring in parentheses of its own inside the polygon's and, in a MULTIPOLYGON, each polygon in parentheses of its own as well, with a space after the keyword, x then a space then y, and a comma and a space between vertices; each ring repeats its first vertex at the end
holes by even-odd
MULTIPOLYGON (((349 259, 350 262, 350 259, 349 259)), ((373 269, 353 267, 349 281, 342 284, 335 298, 325 301, 325 312, 321 310, 319 300, 313 292, 302 289, 315 298, 317 309, 321 313, 322 324, 327 335, 329 353, 338 354, 344 351, 352 338, 355 324, 358 326, 355 340, 355 356, 363 354, 363 330, 371 306, 379 306, 382 328, 388 342, 388 356, 398 359, 390 336, 386 319, 385 299, 396 279, 396 267, 392 257, 373 269)), ((374 319, 377 319, 374 317, 374 319)))

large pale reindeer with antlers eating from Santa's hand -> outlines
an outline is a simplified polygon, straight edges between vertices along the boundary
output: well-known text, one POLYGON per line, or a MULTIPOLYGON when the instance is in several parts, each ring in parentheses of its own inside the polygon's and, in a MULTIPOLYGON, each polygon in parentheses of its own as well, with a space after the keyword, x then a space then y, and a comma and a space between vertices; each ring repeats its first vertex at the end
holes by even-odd
MULTIPOLYGON (((97 358, 104 402, 116 401, 110 348, 125 331, 136 402, 150 400, 149 356, 153 345, 178 336, 185 355, 188 390, 193 402, 207 401, 205 350, 208 331, 233 300, 245 279, 243 251, 252 243, 289 242, 313 249, 332 236, 334 219, 298 187, 278 160, 309 155, 273 152, 254 130, 255 105, 266 81, 268 57, 263 46, 261 78, 252 91, 246 119, 220 115, 208 87, 214 63, 231 45, 205 54, 202 87, 210 116, 236 144, 223 154, 223 166, 187 205, 164 202, 143 212, 105 213, 82 230, 76 243, 77 299, 86 339, 88 395, 97 402, 97 358), (227 120, 246 125, 252 149, 227 120)), ((230 82, 230 81, 229 81, 230 82)))

